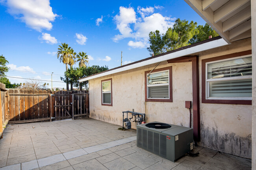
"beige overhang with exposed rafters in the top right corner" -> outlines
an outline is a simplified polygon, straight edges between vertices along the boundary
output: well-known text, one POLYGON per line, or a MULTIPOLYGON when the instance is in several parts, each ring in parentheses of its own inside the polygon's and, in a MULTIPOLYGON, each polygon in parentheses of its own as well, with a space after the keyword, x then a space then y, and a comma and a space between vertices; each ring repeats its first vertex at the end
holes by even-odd
POLYGON ((185 0, 226 42, 251 37, 250 0, 185 0))

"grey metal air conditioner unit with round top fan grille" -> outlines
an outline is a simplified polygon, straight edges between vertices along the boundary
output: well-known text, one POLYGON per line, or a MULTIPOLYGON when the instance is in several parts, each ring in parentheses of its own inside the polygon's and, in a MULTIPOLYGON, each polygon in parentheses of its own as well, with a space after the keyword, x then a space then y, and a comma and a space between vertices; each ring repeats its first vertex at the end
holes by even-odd
POLYGON ((137 146, 175 162, 193 150, 193 129, 161 122, 139 124, 137 146))

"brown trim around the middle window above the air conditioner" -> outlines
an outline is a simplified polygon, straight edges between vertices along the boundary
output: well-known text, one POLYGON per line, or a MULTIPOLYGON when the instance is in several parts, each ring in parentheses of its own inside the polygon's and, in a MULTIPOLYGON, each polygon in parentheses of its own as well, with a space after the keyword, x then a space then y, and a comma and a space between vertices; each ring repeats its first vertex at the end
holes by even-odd
POLYGON ((170 99, 147 99, 147 74, 151 71, 145 71, 145 101, 146 102, 173 102, 173 74, 172 74, 172 66, 154 69, 151 73, 169 70, 169 95, 170 99))

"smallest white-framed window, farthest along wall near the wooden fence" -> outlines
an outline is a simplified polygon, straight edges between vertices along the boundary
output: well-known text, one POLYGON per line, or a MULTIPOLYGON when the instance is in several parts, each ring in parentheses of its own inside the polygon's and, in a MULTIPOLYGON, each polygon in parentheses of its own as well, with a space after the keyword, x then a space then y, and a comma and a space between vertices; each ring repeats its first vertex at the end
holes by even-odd
POLYGON ((102 81, 102 104, 112 104, 111 80, 102 81))

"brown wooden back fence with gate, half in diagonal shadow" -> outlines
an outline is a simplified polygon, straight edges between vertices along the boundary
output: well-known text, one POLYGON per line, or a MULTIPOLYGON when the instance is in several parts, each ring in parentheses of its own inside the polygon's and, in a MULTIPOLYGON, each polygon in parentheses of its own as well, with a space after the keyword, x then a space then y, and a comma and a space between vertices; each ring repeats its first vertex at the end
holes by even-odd
POLYGON ((52 121, 89 116, 85 91, 9 90, 9 123, 52 121), (79 96, 78 96, 79 95, 79 96))

